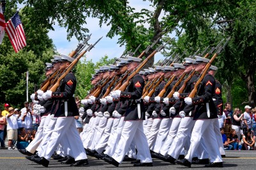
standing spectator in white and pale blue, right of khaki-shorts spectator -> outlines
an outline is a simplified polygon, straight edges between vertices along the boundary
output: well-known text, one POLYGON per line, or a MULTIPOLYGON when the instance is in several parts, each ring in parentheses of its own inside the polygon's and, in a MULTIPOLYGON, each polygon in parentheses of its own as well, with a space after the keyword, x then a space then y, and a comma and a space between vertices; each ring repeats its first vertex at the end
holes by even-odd
POLYGON ((21 110, 21 120, 22 127, 26 128, 26 132, 29 130, 30 132, 33 130, 33 116, 31 114, 31 108, 29 108, 29 102, 24 102, 24 108, 21 110))

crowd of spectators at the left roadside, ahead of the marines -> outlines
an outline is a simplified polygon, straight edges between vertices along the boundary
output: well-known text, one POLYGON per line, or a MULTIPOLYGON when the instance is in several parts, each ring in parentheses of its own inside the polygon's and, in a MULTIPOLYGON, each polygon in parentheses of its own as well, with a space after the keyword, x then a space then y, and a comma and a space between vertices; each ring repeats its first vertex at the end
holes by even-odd
POLYGON ((25 149, 35 138, 40 125, 40 116, 33 114, 33 103, 24 102, 22 109, 4 104, 4 110, 0 109, 0 112, 0 148, 25 149), (5 146, 6 137, 8 147, 5 146))

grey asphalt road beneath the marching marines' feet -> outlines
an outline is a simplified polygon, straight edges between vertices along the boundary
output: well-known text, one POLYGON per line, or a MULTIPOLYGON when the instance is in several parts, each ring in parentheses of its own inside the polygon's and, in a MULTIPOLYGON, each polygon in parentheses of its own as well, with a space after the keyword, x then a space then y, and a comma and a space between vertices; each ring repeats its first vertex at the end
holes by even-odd
MULTIPOLYGON (((48 169, 184 169, 186 167, 180 165, 171 165, 168 162, 154 159, 153 167, 133 167, 130 162, 123 162, 119 167, 112 166, 103 160, 97 160, 93 157, 88 157, 89 165, 86 167, 69 167, 60 164, 56 160, 51 160, 48 169)), ((223 158, 224 167, 222 169, 256 169, 256 151, 226 151, 226 157, 223 158)), ((41 165, 35 164, 27 160, 24 155, 18 150, 0 150, 0 169, 43 169, 41 165)), ((192 165, 192 169, 205 169, 204 165, 192 165)), ((214 169, 214 168, 211 168, 214 169)))

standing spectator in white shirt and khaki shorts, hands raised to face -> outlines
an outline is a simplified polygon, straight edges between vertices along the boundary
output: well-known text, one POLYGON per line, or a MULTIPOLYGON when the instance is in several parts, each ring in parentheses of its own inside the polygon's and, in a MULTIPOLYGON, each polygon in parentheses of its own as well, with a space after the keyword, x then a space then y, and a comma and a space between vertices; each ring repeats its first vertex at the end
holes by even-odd
POLYGON ((15 146, 13 146, 13 140, 18 139, 17 112, 14 111, 13 107, 9 107, 8 111, 9 114, 6 116, 8 150, 12 150, 15 149, 15 146))

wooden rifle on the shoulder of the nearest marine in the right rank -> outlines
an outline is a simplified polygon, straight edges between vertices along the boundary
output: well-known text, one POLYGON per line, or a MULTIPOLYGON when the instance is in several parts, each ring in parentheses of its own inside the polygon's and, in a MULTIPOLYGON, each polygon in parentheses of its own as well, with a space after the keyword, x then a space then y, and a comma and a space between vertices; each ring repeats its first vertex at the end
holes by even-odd
POLYGON ((196 81, 196 84, 193 88, 193 90, 191 91, 191 93, 189 94, 189 97, 190 98, 193 98, 195 97, 196 95, 196 92, 197 92, 197 88, 200 84, 200 82, 202 82, 202 80, 204 79, 204 76, 206 75, 207 71, 209 70, 212 62, 214 61, 214 59, 216 58, 216 56, 218 56, 218 54, 220 54, 221 50, 223 50, 225 48, 225 46, 227 45, 228 41, 230 40, 230 37, 228 37, 227 41, 224 43, 224 45, 222 47, 220 47, 218 49, 218 51, 212 56, 211 60, 209 61, 209 63, 207 63, 207 65, 205 66, 204 70, 202 71, 202 73, 200 73, 197 81, 196 81))

